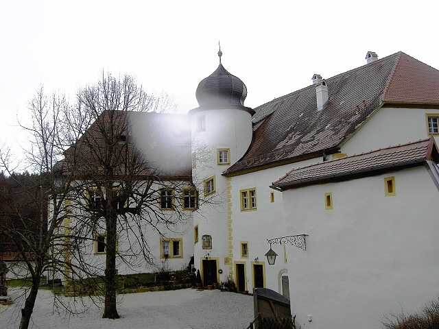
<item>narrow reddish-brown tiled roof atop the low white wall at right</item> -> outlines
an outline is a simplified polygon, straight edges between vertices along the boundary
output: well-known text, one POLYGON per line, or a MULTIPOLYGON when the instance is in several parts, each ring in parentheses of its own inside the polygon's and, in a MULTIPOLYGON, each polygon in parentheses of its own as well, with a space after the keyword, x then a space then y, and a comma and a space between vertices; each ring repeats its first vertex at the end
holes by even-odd
POLYGON ((359 175, 377 173, 377 171, 389 171, 423 164, 426 160, 432 159, 438 160, 439 156, 434 138, 431 137, 423 141, 293 169, 283 178, 274 182, 272 186, 285 190, 335 179, 348 180, 359 175))

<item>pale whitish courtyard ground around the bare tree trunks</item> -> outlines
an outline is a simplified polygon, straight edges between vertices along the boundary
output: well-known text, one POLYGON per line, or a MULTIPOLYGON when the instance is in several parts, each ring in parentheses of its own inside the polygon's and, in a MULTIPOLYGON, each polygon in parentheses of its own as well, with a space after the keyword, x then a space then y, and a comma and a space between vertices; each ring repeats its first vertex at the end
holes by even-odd
MULTIPOLYGON (((11 295, 17 295, 12 291, 11 295)), ((88 298, 77 304, 84 313, 68 316, 52 308, 50 291, 38 291, 32 316, 32 329, 244 329, 253 318, 252 296, 217 290, 157 291, 119 295, 121 319, 102 319, 102 308, 88 298)), ((65 297, 66 303, 73 299, 65 297)), ((21 301, 11 306, 0 305, 0 328, 18 328, 21 301)))

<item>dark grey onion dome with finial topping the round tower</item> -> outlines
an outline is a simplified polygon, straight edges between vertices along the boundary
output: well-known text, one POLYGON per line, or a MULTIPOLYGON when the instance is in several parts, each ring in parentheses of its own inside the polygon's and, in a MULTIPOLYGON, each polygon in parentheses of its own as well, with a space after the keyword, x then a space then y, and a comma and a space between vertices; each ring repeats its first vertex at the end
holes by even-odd
POLYGON ((239 108, 253 114, 244 106, 247 87, 239 77, 228 73, 221 64, 221 49, 218 51, 219 66, 198 84, 195 96, 200 108, 239 108))

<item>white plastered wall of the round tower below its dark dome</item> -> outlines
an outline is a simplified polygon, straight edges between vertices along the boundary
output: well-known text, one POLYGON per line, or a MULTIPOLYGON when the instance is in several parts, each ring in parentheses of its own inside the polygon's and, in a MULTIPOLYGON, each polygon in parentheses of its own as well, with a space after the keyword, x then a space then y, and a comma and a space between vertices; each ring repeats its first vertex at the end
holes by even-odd
POLYGON ((225 281, 230 269, 228 248, 228 204, 230 181, 222 173, 244 155, 252 140, 251 116, 244 110, 202 110, 190 114, 193 183, 200 192, 200 208, 193 214, 198 228, 194 245, 195 267, 202 272, 202 260, 217 260, 218 280, 225 281), (200 130, 200 120, 204 121, 200 130), (228 150, 228 163, 218 163, 218 150, 228 150), (215 192, 205 195, 206 179, 215 180, 215 192), (204 249, 202 236, 211 236, 211 249, 204 249))

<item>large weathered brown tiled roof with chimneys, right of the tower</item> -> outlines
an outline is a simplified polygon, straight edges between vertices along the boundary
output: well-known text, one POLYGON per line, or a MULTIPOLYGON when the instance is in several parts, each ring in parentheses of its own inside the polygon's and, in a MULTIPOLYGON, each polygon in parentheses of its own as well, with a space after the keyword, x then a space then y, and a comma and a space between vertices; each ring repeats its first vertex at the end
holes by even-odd
POLYGON ((224 175, 333 153, 385 103, 439 105, 439 71, 401 51, 326 82, 321 111, 314 85, 255 108, 252 143, 224 175))

